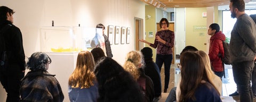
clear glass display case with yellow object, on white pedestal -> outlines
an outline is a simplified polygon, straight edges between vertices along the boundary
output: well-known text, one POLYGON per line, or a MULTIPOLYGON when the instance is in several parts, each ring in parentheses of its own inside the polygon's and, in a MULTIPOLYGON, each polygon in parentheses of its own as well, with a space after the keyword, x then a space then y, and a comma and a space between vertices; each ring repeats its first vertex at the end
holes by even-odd
POLYGON ((86 27, 41 27, 42 52, 80 52, 101 47, 105 42, 100 28, 86 27))

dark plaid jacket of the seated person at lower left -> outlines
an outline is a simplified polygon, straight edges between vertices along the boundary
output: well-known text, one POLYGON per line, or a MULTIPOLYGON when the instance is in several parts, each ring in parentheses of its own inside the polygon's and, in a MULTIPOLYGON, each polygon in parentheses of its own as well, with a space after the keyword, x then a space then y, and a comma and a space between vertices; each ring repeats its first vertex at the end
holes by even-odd
POLYGON ((59 82, 47 71, 30 71, 21 80, 21 101, 63 101, 59 82))

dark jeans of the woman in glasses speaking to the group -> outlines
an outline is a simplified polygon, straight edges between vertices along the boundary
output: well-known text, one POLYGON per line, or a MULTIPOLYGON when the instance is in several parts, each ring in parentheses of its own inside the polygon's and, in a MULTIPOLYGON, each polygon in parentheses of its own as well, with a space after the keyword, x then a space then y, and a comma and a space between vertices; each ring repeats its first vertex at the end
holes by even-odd
POLYGON ((172 54, 171 55, 160 55, 156 54, 156 64, 161 72, 162 65, 164 63, 164 89, 168 89, 170 81, 170 69, 172 64, 172 54))

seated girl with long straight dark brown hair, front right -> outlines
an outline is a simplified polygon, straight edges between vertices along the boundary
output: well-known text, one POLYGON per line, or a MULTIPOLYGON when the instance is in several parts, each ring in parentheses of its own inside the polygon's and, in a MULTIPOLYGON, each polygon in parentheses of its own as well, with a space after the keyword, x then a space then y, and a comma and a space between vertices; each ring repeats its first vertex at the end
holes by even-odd
POLYGON ((180 96, 177 101, 221 101, 220 93, 199 54, 190 51, 182 53, 180 64, 180 96))

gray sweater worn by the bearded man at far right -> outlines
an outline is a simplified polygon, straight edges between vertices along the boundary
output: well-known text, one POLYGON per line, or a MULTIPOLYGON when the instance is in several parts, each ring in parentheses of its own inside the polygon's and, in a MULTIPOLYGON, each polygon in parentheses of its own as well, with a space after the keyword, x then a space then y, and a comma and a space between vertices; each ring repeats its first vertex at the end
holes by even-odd
POLYGON ((237 18, 230 38, 231 62, 253 61, 256 53, 256 25, 249 15, 237 18))

